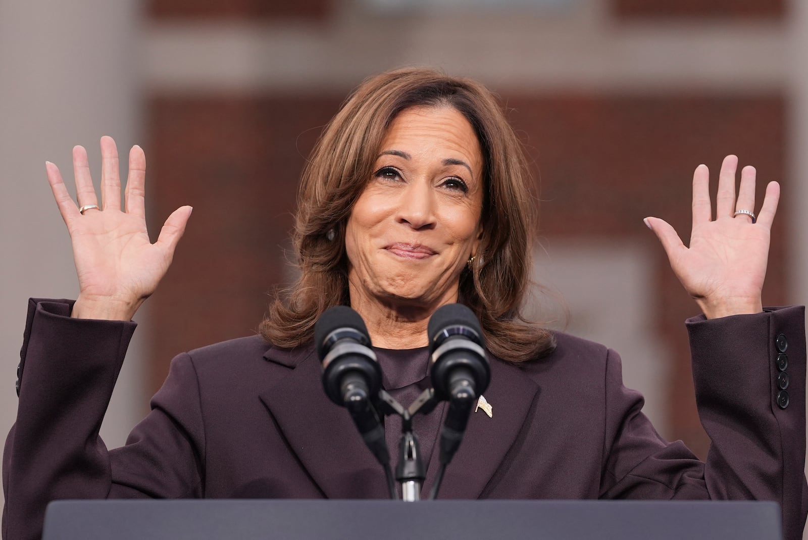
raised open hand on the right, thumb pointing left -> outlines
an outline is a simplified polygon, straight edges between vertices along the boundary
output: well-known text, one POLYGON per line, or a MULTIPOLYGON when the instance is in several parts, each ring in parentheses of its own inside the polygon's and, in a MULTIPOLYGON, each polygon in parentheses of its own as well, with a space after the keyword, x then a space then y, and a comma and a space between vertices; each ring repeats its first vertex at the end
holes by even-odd
POLYGON ((709 171, 705 165, 693 173, 693 224, 690 247, 659 217, 647 217, 646 225, 659 238, 671 268, 708 319, 734 314, 760 313, 766 276, 772 221, 780 200, 780 184, 766 187, 763 206, 752 217, 735 214, 755 211, 755 167, 743 167, 738 199, 735 171, 738 158, 724 158, 718 175, 716 218, 712 219, 709 171))

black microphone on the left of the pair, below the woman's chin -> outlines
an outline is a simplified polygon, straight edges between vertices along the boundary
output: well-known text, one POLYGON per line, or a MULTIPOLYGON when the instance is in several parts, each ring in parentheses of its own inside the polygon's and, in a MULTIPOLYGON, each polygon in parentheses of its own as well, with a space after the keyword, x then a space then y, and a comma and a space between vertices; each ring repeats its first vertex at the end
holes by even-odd
POLYGON ((314 325, 314 344, 326 395, 347 407, 364 443, 381 465, 389 466, 385 428, 373 407, 381 390, 381 367, 362 317, 347 306, 326 310, 314 325))

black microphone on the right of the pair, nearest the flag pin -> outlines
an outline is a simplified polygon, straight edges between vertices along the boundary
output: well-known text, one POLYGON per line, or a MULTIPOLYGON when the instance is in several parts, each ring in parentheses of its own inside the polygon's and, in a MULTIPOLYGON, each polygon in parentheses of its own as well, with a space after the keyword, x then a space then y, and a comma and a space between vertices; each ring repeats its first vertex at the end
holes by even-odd
POLYGON ((482 329, 472 310, 462 304, 441 306, 427 325, 431 379, 436 399, 449 402, 440 432, 440 462, 452 461, 463 440, 469 415, 491 380, 482 329))

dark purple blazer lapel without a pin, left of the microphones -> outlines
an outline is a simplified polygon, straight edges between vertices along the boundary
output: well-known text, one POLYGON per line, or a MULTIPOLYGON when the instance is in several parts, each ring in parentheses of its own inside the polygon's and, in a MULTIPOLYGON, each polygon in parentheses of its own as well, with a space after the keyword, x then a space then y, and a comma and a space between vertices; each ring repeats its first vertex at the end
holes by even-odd
POLYGON ((347 410, 326 397, 314 346, 292 352, 273 348, 264 356, 292 371, 259 397, 325 496, 386 498, 384 470, 364 445, 347 410))

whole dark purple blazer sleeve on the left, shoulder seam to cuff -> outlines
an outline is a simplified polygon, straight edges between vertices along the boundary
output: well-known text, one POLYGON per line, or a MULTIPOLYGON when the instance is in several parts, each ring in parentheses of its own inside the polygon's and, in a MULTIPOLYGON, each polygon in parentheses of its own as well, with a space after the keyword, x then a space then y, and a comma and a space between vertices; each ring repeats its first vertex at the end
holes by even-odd
POLYGON ((136 325, 71 319, 71 308, 29 302, 17 419, 3 453, 3 538, 40 538, 51 500, 201 496, 204 434, 190 358, 172 363, 127 445, 107 451, 99 428, 136 325))

